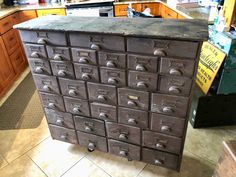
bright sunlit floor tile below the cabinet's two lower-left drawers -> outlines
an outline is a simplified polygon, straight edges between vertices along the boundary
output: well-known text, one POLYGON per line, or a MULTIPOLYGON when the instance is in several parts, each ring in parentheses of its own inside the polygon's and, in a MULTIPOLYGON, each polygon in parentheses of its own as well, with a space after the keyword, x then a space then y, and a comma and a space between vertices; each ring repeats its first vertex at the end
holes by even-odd
POLYGON ((49 177, 59 177, 86 153, 86 149, 78 145, 48 138, 27 154, 49 177))

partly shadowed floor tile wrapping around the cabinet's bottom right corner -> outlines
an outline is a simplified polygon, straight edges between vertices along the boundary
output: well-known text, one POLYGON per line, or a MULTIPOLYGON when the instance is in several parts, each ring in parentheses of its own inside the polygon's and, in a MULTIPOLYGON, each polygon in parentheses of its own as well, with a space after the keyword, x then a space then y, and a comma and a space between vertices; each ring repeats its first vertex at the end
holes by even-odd
POLYGON ((211 177, 214 165, 185 151, 180 172, 148 164, 138 177, 211 177))

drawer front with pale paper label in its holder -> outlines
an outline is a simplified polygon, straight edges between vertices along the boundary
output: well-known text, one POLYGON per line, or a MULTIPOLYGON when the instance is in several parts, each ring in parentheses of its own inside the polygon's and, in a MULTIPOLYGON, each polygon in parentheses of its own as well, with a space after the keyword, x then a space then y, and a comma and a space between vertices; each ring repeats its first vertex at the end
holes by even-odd
POLYGON ((118 88, 118 104, 130 108, 148 110, 149 93, 126 88, 118 88))

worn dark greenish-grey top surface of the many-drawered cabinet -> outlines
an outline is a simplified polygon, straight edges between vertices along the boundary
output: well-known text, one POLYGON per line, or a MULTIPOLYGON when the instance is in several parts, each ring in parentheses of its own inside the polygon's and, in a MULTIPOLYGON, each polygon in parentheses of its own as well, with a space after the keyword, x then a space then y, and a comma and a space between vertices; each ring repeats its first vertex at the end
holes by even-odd
POLYGON ((122 36, 204 41, 208 39, 205 20, 159 18, 110 18, 44 16, 14 26, 20 30, 86 32, 122 36))

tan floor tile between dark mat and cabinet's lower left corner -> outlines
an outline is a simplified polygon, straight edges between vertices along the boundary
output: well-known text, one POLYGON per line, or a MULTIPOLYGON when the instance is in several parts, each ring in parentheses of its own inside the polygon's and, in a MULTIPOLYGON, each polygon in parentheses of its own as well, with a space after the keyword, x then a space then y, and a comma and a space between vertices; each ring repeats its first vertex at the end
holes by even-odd
POLYGON ((11 162, 47 137, 49 137, 49 130, 45 118, 37 128, 1 130, 0 153, 11 162))

